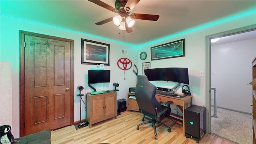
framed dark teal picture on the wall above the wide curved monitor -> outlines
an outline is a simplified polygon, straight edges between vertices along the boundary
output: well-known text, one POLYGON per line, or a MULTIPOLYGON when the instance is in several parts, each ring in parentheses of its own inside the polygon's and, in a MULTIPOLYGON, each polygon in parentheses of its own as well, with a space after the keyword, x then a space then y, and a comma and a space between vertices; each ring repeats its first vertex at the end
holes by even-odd
POLYGON ((185 56, 185 39, 151 47, 151 60, 185 56))

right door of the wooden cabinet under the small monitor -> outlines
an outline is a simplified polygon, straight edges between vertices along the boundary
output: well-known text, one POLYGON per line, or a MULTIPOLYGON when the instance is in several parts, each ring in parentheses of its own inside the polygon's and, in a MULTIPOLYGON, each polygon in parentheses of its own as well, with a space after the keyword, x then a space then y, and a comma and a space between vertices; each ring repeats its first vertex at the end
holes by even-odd
POLYGON ((105 104, 106 117, 116 116, 116 93, 113 92, 105 96, 105 104))

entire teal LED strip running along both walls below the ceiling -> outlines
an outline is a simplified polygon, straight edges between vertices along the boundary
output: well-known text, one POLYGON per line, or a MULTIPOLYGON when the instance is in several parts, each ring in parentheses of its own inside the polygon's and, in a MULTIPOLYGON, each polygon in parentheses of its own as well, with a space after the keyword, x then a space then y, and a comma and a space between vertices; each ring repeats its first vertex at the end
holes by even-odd
POLYGON ((14 17, 14 16, 8 16, 8 15, 5 15, 5 14, 0 14, 0 16, 5 16, 5 17, 8 17, 8 18, 14 18, 14 19, 17 19, 17 20, 23 20, 23 21, 26 21, 26 22, 32 22, 32 23, 35 23, 35 24, 40 24, 40 25, 43 25, 43 26, 48 26, 48 27, 52 27, 52 28, 57 28, 57 29, 60 29, 60 30, 65 30, 65 31, 68 31, 68 32, 74 32, 74 33, 77 33, 77 34, 82 34, 82 35, 85 35, 85 36, 91 36, 91 37, 95 37, 95 38, 100 38, 100 39, 103 39, 103 40, 109 40, 109 41, 112 41, 112 42, 117 42, 117 43, 120 43, 120 44, 125 44, 125 45, 129 45, 129 46, 134 46, 134 47, 140 47, 140 46, 145 46, 145 45, 148 45, 148 44, 152 44, 152 43, 155 43, 155 42, 159 42, 159 41, 162 41, 162 40, 166 40, 166 39, 169 39, 169 38, 173 38, 175 36, 179 36, 179 35, 182 35, 182 34, 186 34, 186 33, 189 33, 189 32, 193 32, 195 30, 200 30, 202 28, 206 28, 206 27, 209 27, 209 26, 213 26, 215 24, 219 24, 219 23, 222 23, 222 22, 226 22, 228 20, 233 20, 235 18, 239 18, 239 17, 242 17, 242 16, 246 16, 248 14, 252 14, 252 13, 255 13, 256 12, 256 9, 255 10, 251 10, 251 11, 248 11, 248 12, 245 12, 245 13, 242 13, 242 14, 238 14, 238 15, 235 15, 235 16, 231 16, 229 18, 224 18, 222 20, 218 20, 216 22, 211 22, 209 24, 205 24, 205 25, 202 25, 202 26, 198 26, 196 28, 191 28, 191 29, 188 29, 188 30, 184 30, 182 32, 178 32, 176 34, 172 34, 172 35, 169 35, 169 36, 165 36, 165 37, 162 37, 162 38, 158 38, 156 40, 152 40, 150 42, 146 42, 144 44, 140 44, 140 45, 134 45, 134 44, 130 44, 130 43, 126 43, 126 42, 121 42, 121 41, 118 41, 118 40, 113 40, 113 39, 110 39, 110 38, 105 38, 105 37, 101 37, 101 36, 96 36, 96 35, 93 35, 93 34, 88 34, 88 33, 84 33, 84 32, 78 32, 78 31, 75 31, 75 30, 70 30, 70 29, 67 29, 67 28, 62 28, 62 27, 59 27, 59 26, 53 26, 53 25, 50 25, 50 24, 44 24, 44 23, 41 23, 41 22, 36 22, 36 21, 33 21, 33 20, 26 20, 26 19, 22 19, 22 18, 18 18, 18 17, 14 17))

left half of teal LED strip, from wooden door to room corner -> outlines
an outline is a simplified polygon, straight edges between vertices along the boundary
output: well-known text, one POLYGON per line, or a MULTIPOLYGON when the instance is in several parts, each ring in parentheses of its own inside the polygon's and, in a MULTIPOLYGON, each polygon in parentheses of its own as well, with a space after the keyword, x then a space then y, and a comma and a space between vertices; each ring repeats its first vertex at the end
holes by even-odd
POLYGON ((57 29, 60 29, 60 30, 68 31, 68 32, 74 32, 76 34, 82 34, 82 35, 85 35, 85 36, 91 36, 91 37, 94 37, 94 38, 100 38, 100 39, 103 39, 103 40, 109 40, 109 41, 112 41, 112 42, 117 42, 117 43, 120 43, 120 44, 125 44, 125 45, 136 47, 136 45, 134 45, 134 44, 130 44, 130 43, 126 43, 126 42, 121 42, 121 41, 118 41, 118 40, 113 40, 113 39, 110 39, 110 38, 96 36, 96 35, 88 34, 88 33, 84 33, 84 32, 78 32, 78 31, 75 31, 75 30, 70 30, 70 29, 67 29, 67 28, 59 27, 59 26, 53 26, 53 25, 50 25, 50 24, 45 24, 45 23, 42 23, 42 22, 36 22, 36 21, 33 21, 33 20, 27 20, 27 19, 23 19, 23 18, 14 17, 14 16, 8 16, 6 14, 0 14, 0 16, 5 16, 7 18, 14 18, 16 20, 23 20, 25 22, 32 22, 32 23, 35 23, 35 24, 40 24, 40 25, 43 25, 43 26, 51 27, 51 28, 57 28, 57 29))

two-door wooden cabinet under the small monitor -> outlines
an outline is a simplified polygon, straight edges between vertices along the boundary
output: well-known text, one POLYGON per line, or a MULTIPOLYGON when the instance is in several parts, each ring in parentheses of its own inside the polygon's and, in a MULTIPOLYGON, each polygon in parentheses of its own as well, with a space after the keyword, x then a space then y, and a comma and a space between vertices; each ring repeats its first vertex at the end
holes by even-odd
POLYGON ((86 120, 89 128, 92 124, 112 117, 116 118, 116 92, 86 94, 86 120))

